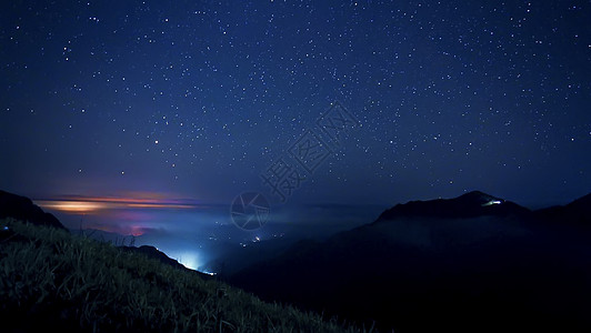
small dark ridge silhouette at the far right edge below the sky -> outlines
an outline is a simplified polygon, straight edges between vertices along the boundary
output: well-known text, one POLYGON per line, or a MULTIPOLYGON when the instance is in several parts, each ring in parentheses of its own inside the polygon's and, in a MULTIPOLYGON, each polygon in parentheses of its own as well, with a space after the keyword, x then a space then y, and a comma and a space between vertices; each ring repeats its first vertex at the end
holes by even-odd
POLYGON ((567 205, 555 205, 535 211, 535 215, 545 222, 591 226, 591 193, 567 205))

